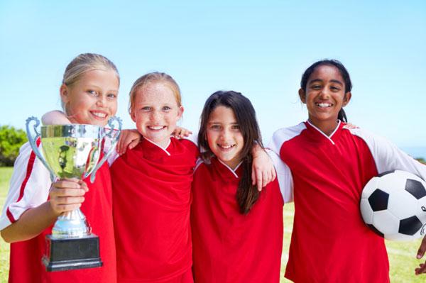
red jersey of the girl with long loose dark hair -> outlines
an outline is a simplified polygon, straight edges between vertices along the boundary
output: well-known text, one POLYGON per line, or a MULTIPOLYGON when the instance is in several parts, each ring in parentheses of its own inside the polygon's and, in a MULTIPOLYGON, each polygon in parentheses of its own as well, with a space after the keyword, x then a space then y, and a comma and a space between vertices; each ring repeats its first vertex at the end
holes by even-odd
MULTIPOLYGON (((283 176, 291 183, 290 172, 283 176)), ((195 282, 280 282, 283 204, 278 179, 263 188, 247 214, 241 214, 236 191, 241 167, 231 170, 212 157, 202 162, 192 183, 191 225, 195 282)))

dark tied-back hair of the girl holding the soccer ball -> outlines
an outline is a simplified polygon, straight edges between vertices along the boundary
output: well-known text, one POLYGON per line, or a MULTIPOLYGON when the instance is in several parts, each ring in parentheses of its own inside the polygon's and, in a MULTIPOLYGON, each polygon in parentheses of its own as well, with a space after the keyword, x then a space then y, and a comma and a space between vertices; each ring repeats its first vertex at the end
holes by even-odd
MULTIPOLYGON (((300 88, 303 89, 305 93, 306 93, 307 81, 310 75, 315 71, 315 69, 317 69, 317 67, 324 66, 324 65, 336 67, 337 70, 339 70, 344 80, 344 93, 346 94, 346 92, 351 91, 352 89, 351 77, 349 77, 349 72, 346 70, 342 62, 340 62, 339 60, 334 60, 334 59, 331 59, 331 60, 324 59, 310 65, 310 67, 308 67, 306 71, 302 74, 302 79, 300 80, 300 88)), ((344 112, 343 108, 340 109, 339 116, 337 116, 337 118, 343 122, 348 121, 346 117, 346 113, 344 112)))

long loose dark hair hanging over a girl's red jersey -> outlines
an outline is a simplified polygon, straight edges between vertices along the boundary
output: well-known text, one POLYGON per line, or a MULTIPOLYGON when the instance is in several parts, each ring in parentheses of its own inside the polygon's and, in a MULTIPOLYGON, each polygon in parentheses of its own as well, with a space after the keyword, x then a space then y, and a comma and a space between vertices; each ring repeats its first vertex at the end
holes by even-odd
POLYGON ((207 142, 207 123, 209 122, 210 114, 217 106, 225 106, 234 111, 236 122, 239 124, 241 135, 244 138, 244 147, 240 152, 243 174, 236 191, 236 201, 239 204, 240 212, 246 214, 249 213, 260 194, 257 188, 251 184, 251 164, 253 163, 251 150, 256 143, 263 148, 261 131, 256 121, 256 111, 254 111, 250 100, 239 92, 216 91, 212 94, 204 104, 200 118, 198 145, 200 149, 206 150, 202 152, 203 160, 209 160, 213 156, 213 152, 207 142))

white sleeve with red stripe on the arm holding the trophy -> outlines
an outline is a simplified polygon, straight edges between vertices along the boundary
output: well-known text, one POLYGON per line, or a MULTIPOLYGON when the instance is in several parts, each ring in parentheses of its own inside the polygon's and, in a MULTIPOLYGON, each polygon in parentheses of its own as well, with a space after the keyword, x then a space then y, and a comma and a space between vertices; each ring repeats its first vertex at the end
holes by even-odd
POLYGON ((27 209, 39 206, 48 199, 52 184, 50 173, 31 152, 33 150, 28 142, 19 150, 1 213, 0 230, 17 221, 27 209))

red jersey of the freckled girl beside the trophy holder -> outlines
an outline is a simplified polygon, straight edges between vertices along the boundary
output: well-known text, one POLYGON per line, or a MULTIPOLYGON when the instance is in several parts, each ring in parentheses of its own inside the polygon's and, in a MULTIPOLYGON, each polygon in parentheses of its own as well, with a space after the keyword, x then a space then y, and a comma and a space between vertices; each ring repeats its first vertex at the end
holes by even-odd
POLYGON ((143 139, 111 165, 119 282, 192 282, 190 140, 143 139))

